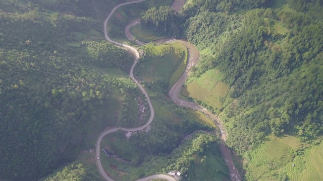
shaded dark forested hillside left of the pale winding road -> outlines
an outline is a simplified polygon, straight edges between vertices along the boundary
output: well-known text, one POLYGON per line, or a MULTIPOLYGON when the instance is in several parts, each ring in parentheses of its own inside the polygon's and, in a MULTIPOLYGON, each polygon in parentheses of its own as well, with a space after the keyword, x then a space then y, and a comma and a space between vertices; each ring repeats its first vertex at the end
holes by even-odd
POLYGON ((111 106, 137 89, 101 70, 128 71, 133 58, 102 41, 91 1, 0 1, 0 9, 0 179, 36 180, 117 123, 111 106))

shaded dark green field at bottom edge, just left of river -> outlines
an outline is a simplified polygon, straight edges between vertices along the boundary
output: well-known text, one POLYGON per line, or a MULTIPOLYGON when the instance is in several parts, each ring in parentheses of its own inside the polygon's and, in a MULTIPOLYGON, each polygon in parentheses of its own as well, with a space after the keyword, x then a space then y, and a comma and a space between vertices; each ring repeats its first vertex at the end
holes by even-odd
POLYGON ((195 161, 189 167, 188 176, 183 180, 229 180, 226 166, 218 155, 206 152, 205 157, 196 155, 195 161), (205 159, 201 161, 202 159, 205 159))

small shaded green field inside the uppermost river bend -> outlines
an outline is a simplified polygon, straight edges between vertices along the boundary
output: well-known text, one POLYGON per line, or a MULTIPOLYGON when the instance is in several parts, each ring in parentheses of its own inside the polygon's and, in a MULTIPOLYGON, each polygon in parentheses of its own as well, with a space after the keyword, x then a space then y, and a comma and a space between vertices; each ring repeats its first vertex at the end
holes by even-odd
POLYGON ((130 28, 129 30, 134 37, 142 42, 152 42, 155 40, 167 38, 167 36, 160 36, 158 33, 142 29, 140 25, 136 25, 130 28))

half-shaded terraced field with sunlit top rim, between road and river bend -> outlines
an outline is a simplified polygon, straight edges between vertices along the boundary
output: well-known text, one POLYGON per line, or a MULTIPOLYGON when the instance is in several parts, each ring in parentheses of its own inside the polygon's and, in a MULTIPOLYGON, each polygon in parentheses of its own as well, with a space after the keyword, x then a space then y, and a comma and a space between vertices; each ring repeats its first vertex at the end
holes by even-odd
POLYGON ((167 81, 170 89, 185 71, 187 49, 181 43, 160 46, 145 45, 144 61, 136 69, 145 81, 167 81))

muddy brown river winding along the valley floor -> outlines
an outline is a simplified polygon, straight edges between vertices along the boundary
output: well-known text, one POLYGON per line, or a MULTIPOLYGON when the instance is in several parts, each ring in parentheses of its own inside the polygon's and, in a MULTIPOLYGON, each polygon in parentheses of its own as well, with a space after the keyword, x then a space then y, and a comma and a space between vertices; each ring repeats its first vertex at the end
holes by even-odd
MULTIPOLYGON (((181 8, 184 6, 184 3, 185 3, 184 0, 175 0, 172 7, 176 11, 180 11, 181 8)), ((137 25, 139 23, 140 23, 140 19, 135 20, 135 21, 131 22, 129 25, 126 26, 125 33, 126 33, 126 36, 127 36, 127 38, 129 40, 132 40, 132 37, 133 37, 133 35, 130 33, 129 29, 132 26, 135 26, 135 25, 137 25)), ((181 99, 178 98, 178 94, 181 91, 181 88, 182 88, 183 84, 185 83, 186 78, 191 73, 191 67, 196 65, 200 54, 199 54, 198 50, 192 44, 187 42, 186 40, 175 40, 173 38, 166 38, 166 39, 157 40, 155 42, 156 43, 167 43, 167 42, 173 42, 173 41, 180 42, 180 43, 184 44, 187 47, 189 60, 188 60, 185 72, 180 77, 180 79, 173 85, 173 87, 170 89, 168 95, 177 106, 190 108, 190 109, 193 109, 193 110, 196 110, 196 111, 201 111, 207 117, 209 117, 210 119, 212 119, 214 121, 214 124, 217 125, 217 127, 219 128, 220 133, 221 133, 220 134, 220 136, 221 136, 220 137, 220 150, 221 150, 222 156, 226 160, 227 166, 229 168, 230 178, 233 181, 241 180, 241 177, 240 177, 240 174, 238 172, 238 169, 234 166, 234 163, 232 161, 231 155, 229 153, 229 148, 227 147, 227 144, 225 143, 225 140, 227 139, 227 132, 226 132, 226 129, 225 129, 223 123, 219 119, 219 117, 217 115, 214 115, 211 112, 207 111, 205 108, 203 108, 200 105, 197 105, 197 104, 195 104, 193 102, 181 100, 181 99)), ((138 40, 136 40, 135 43, 137 45, 139 45, 139 46, 144 44, 144 42, 140 42, 138 40)))

